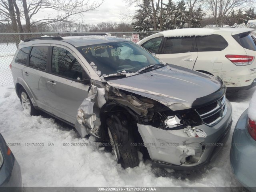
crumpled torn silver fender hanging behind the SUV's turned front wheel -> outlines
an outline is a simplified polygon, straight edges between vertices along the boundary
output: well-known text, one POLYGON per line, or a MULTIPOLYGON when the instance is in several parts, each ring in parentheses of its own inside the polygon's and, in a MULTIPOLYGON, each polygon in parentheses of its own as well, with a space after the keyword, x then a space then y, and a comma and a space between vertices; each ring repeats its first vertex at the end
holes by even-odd
POLYGON ((91 86, 88 97, 84 99, 77 111, 75 128, 81 137, 92 134, 96 137, 100 128, 99 110, 106 103, 104 88, 91 86), (95 105, 96 103, 96 105, 95 105))

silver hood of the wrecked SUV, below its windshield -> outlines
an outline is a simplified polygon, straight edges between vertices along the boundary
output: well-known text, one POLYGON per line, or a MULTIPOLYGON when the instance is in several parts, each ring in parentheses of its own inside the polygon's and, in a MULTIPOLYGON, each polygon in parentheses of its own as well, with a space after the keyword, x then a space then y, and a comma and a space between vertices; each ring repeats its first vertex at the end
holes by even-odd
MULTIPOLYGON (((171 64, 107 83, 115 88, 156 100, 172 110, 191 108, 194 101, 203 104, 204 101, 209 102, 209 99, 216 100, 216 94, 213 93, 223 89, 222 82, 214 76, 171 64)), ((219 97, 219 94, 217 95, 219 97)))

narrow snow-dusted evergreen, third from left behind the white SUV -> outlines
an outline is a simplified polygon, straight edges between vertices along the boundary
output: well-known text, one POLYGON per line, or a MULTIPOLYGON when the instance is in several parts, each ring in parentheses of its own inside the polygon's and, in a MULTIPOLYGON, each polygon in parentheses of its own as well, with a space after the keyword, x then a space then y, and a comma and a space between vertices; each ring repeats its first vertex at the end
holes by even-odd
POLYGON ((186 28, 188 22, 188 14, 186 11, 186 5, 183 0, 178 2, 176 11, 176 28, 186 28))

